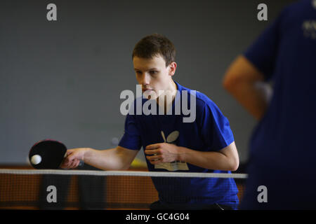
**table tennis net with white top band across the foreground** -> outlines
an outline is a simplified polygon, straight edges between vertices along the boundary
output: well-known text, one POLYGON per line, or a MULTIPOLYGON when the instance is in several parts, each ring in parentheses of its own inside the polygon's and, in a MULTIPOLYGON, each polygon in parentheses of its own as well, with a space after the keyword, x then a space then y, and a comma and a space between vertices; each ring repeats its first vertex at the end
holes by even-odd
POLYGON ((0 209, 150 209, 159 200, 154 183, 165 200, 198 203, 199 189, 187 186, 218 179, 235 180, 242 200, 246 174, 0 169, 0 209))

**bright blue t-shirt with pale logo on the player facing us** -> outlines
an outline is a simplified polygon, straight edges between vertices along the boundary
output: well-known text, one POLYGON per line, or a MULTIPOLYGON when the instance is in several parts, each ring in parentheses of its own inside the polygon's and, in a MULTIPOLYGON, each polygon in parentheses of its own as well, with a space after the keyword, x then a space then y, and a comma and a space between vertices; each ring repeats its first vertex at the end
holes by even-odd
MULTIPOLYGON (((228 119, 223 116, 216 104, 201 92, 191 92, 176 83, 178 93, 172 105, 171 115, 136 115, 136 101, 131 109, 133 115, 126 116, 125 131, 119 146, 131 150, 140 150, 150 144, 168 142, 195 151, 219 151, 234 141, 228 119), (195 97, 195 98, 191 98, 195 97), (192 100, 195 99, 195 102, 192 100), (182 110, 182 105, 190 109, 191 113, 182 110), (194 104, 196 110, 194 110, 194 104), (192 106, 192 107, 191 107, 192 106), (180 109, 180 113, 179 110, 180 109), (184 111, 184 112, 183 112, 184 111), (195 113, 195 116, 192 114, 195 113), (190 118, 193 122, 184 122, 183 118, 190 118), (195 118, 195 119, 192 119, 195 118), (163 133, 163 134, 162 134, 163 133), (164 135, 164 137, 163 137, 164 135)), ((143 106, 147 99, 140 99, 143 106)), ((152 100, 154 104, 157 103, 152 100)), ((152 109, 152 107, 149 107, 152 109)), ((154 109, 153 109, 154 111, 154 109)), ((170 111, 169 111, 170 113, 170 111)), ((154 172, 214 172, 230 173, 220 170, 209 170, 185 162, 164 163, 152 165, 148 160, 147 167, 154 172)), ((152 178, 159 193, 159 201, 163 204, 227 204, 237 208, 237 186, 233 179, 204 179, 204 178, 152 178)))

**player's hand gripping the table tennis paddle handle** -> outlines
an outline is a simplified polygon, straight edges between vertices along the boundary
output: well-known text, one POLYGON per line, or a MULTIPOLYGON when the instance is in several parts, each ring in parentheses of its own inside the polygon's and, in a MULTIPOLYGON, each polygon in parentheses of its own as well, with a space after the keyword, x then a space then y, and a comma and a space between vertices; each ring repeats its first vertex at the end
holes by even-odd
POLYGON ((74 169, 79 166, 80 161, 84 161, 84 154, 88 148, 72 148, 68 149, 65 159, 62 161, 60 168, 74 169))

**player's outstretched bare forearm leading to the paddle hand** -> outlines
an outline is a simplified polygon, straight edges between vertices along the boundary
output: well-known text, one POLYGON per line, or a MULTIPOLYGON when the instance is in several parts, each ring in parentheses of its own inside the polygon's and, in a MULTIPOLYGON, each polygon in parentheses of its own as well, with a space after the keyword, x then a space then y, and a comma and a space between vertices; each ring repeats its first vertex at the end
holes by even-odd
POLYGON ((121 155, 117 148, 106 150, 86 148, 84 163, 104 170, 129 169, 130 165, 129 162, 124 160, 124 156, 121 155))

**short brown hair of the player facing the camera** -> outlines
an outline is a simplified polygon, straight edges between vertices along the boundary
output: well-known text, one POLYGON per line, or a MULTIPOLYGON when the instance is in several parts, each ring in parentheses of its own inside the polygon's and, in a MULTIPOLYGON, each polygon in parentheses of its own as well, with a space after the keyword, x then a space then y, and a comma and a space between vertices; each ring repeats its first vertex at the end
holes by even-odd
POLYGON ((166 66, 169 66, 171 62, 175 61, 176 48, 166 36, 161 34, 151 34, 145 36, 136 43, 132 59, 134 57, 149 59, 158 55, 161 55, 166 62, 166 66))

